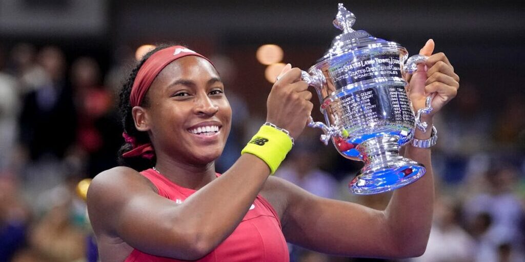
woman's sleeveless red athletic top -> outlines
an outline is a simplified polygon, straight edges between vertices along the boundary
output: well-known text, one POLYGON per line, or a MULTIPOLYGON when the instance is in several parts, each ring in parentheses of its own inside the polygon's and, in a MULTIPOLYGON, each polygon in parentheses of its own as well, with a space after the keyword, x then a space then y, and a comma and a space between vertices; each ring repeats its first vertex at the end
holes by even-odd
MULTIPOLYGON (((182 203, 196 190, 183 188, 153 169, 144 170, 141 174, 148 178, 164 198, 182 203)), ((217 174, 219 176, 219 174, 217 174)), ((124 262, 173 262, 183 261, 159 257, 133 249, 124 262)), ((185 260, 184 260, 185 261, 185 260)), ((253 205, 244 216, 243 221, 235 228, 223 243, 211 253, 195 261, 289 261, 288 247, 282 235, 279 216, 262 196, 257 195, 253 205)))

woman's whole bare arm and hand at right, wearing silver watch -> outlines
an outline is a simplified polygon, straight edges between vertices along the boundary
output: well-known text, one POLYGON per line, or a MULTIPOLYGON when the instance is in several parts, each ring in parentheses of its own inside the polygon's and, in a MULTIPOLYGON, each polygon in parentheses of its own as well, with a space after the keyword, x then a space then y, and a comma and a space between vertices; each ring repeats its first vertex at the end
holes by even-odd
MULTIPOLYGON (((430 56, 434 42, 429 40, 420 51, 430 56)), ((417 112, 425 106, 426 96, 435 93, 434 110, 424 116, 429 128, 416 130, 417 139, 428 139, 432 117, 457 93, 459 78, 445 54, 437 53, 421 64, 411 76, 408 94, 417 112)), ((410 76, 409 76, 410 77, 410 76)), ((384 211, 365 206, 318 198, 286 182, 268 181, 286 187, 282 214, 283 233, 288 242, 319 252, 361 257, 414 257, 424 253, 432 223, 434 180, 430 149, 406 146, 405 156, 426 167, 416 182, 394 191, 384 211)))

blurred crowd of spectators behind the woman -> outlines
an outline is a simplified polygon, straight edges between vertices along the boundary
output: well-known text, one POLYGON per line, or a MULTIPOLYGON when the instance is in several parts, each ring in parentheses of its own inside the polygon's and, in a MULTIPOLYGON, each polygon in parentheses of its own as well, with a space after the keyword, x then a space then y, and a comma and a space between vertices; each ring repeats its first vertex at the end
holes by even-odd
MULTIPOLYGON (((135 57, 115 53, 112 64, 101 65, 90 56, 68 58, 56 46, 0 47, 0 262, 96 261, 76 188, 118 165, 118 91, 135 57)), ((227 86, 235 61, 212 60, 227 86)), ((426 253, 407 261, 525 261, 525 99, 509 95, 497 108, 485 106, 479 88, 462 79, 435 121, 433 228, 426 253)), ((232 165, 264 119, 243 97, 227 96, 234 119, 218 171, 232 165)), ((361 164, 324 147, 319 135, 307 129, 276 175, 316 195, 384 209, 391 193, 348 192, 361 164)), ((289 247, 291 261, 391 261, 289 247)))

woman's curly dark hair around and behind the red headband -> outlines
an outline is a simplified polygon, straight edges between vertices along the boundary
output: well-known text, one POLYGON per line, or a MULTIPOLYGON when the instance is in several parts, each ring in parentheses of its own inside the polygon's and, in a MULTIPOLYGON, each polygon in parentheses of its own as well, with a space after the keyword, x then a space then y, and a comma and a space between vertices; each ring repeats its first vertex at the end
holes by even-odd
MULTIPOLYGON (((144 62, 148 60, 149 57, 151 57, 152 54, 155 52, 175 46, 176 44, 168 44, 168 43, 162 43, 160 45, 157 45, 155 49, 149 51, 142 57, 142 59, 139 61, 137 65, 131 70, 131 73, 128 77, 128 79, 123 83, 122 89, 119 94, 119 111, 122 121, 122 126, 124 128, 124 132, 128 135, 135 138, 135 141, 137 144, 146 144, 151 143, 150 137, 148 133, 142 132, 137 130, 135 128, 135 123, 133 121, 133 115, 131 114, 132 106, 130 104, 130 95, 131 95, 131 88, 133 87, 133 82, 135 81, 135 78, 137 77, 137 73, 139 72, 139 69, 142 67, 144 62)), ((146 94, 142 103, 140 106, 148 107, 149 101, 148 101, 148 95, 146 94)), ((130 143, 124 143, 118 152, 118 161, 119 164, 122 166, 131 167, 137 171, 142 171, 148 168, 151 168, 155 165, 156 157, 153 157, 152 159, 146 159, 141 156, 137 157, 122 157, 122 154, 132 149, 132 144, 130 143)))

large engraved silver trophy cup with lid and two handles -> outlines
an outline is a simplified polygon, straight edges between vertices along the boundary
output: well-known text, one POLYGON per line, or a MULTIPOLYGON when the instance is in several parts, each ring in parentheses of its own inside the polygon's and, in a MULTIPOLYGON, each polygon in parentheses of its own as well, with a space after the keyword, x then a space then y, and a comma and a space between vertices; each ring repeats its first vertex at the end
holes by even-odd
POLYGON ((333 24, 343 32, 308 73, 302 72, 302 79, 316 89, 327 123, 310 118, 309 126, 322 128, 325 145, 331 139, 345 158, 365 163, 349 183, 350 191, 374 194, 425 174, 423 165, 400 156, 399 150, 413 138, 416 127, 426 130, 421 115, 432 111, 432 96, 427 97, 427 107, 414 114, 402 73, 413 73, 426 57, 407 60, 404 47, 353 30, 354 23, 354 14, 339 4, 333 24))

